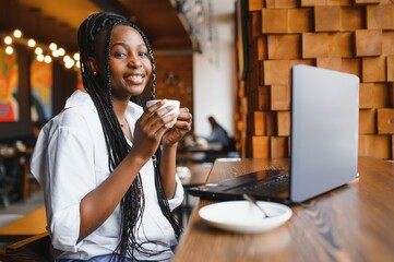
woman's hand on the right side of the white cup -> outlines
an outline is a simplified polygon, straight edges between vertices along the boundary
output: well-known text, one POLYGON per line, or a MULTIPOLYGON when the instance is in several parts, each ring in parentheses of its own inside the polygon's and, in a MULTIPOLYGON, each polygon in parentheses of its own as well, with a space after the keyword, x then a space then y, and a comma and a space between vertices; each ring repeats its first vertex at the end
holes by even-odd
POLYGON ((163 135, 164 145, 172 145, 178 143, 190 130, 192 123, 192 115, 188 108, 181 108, 174 127, 166 131, 163 135))

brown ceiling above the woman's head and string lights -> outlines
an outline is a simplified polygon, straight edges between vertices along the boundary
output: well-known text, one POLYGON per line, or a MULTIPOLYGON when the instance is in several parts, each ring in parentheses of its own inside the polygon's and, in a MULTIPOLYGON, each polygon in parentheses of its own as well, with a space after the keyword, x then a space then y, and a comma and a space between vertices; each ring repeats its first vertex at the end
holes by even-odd
POLYGON ((76 51, 76 31, 89 14, 112 11, 135 22, 160 51, 195 51, 176 0, 0 0, 0 31, 20 28, 43 44, 76 51))

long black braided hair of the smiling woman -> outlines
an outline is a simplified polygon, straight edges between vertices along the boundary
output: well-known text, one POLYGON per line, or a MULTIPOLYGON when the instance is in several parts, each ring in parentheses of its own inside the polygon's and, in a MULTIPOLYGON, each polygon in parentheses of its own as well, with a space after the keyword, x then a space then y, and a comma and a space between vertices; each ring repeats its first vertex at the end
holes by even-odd
MULTIPOLYGON (((156 69, 153 51, 145 34, 135 24, 131 23, 121 15, 109 12, 92 14, 81 24, 77 32, 77 43, 81 57, 81 74, 84 88, 91 95, 98 111, 98 116, 105 134, 105 141, 109 156, 108 166, 110 171, 112 171, 120 164, 120 162, 127 156, 131 148, 130 145, 127 143, 118 118, 116 117, 111 99, 109 55, 111 33, 114 27, 118 25, 131 26, 142 36, 148 49, 148 56, 152 63, 152 99, 155 97, 156 86, 156 69), (106 40, 106 56, 105 75, 100 78, 94 73, 94 70, 92 69, 89 63, 89 58, 95 57, 97 40, 103 36, 106 40)), ((130 100, 144 107, 144 102, 141 95, 132 96, 130 100)), ((179 238, 182 228, 180 227, 178 221, 174 217, 174 214, 170 212, 168 201, 163 188, 159 168, 158 165, 156 165, 156 162, 159 163, 160 160, 159 148, 157 150, 153 158, 155 164, 155 187, 157 191, 158 204, 160 206, 162 213, 172 226, 177 238, 179 238)), ((140 174, 135 177, 133 183, 123 195, 120 204, 122 217, 120 241, 114 252, 119 252, 123 258, 134 258, 134 253, 136 251, 147 255, 157 254, 157 251, 155 252, 153 250, 146 250, 143 247, 143 243, 138 242, 136 240, 136 231, 138 228, 141 226, 138 225, 138 221, 141 221, 145 209, 145 199, 140 174)), ((165 246, 165 243, 158 241, 148 240, 147 242, 154 242, 165 246)))

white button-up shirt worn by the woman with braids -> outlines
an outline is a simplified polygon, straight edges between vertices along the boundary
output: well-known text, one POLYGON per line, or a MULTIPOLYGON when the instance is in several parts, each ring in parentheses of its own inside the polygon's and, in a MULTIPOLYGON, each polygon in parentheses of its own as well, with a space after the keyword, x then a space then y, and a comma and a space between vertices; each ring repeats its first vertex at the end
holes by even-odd
MULTIPOLYGON (((142 107, 129 103, 126 118, 130 129, 142 115, 142 107)), ((131 144, 131 142, 129 141, 131 144)), ((112 253, 119 243, 121 212, 119 205, 107 221, 85 239, 76 243, 80 231, 80 202, 97 188, 110 174, 108 153, 97 110, 91 96, 81 91, 67 100, 64 109, 41 130, 32 156, 31 169, 44 188, 47 229, 55 249, 63 251, 60 258, 87 260, 95 255, 112 253)), ((152 159, 140 170, 145 195, 145 211, 141 241, 159 240, 168 246, 177 243, 175 233, 157 203, 152 159)), ((170 210, 183 201, 183 188, 178 177, 170 210)), ((110 198, 110 195, 108 195, 110 198)), ((153 250, 162 246, 144 246, 153 250)), ((170 260, 168 250, 155 258, 170 260)))

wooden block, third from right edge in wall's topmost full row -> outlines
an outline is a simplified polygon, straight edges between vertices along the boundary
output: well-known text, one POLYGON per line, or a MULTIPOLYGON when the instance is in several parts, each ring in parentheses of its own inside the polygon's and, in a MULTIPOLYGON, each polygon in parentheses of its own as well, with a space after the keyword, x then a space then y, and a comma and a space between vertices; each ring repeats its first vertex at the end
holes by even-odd
POLYGON ((314 7, 314 31, 315 32, 341 31, 341 7, 338 5, 314 7))

